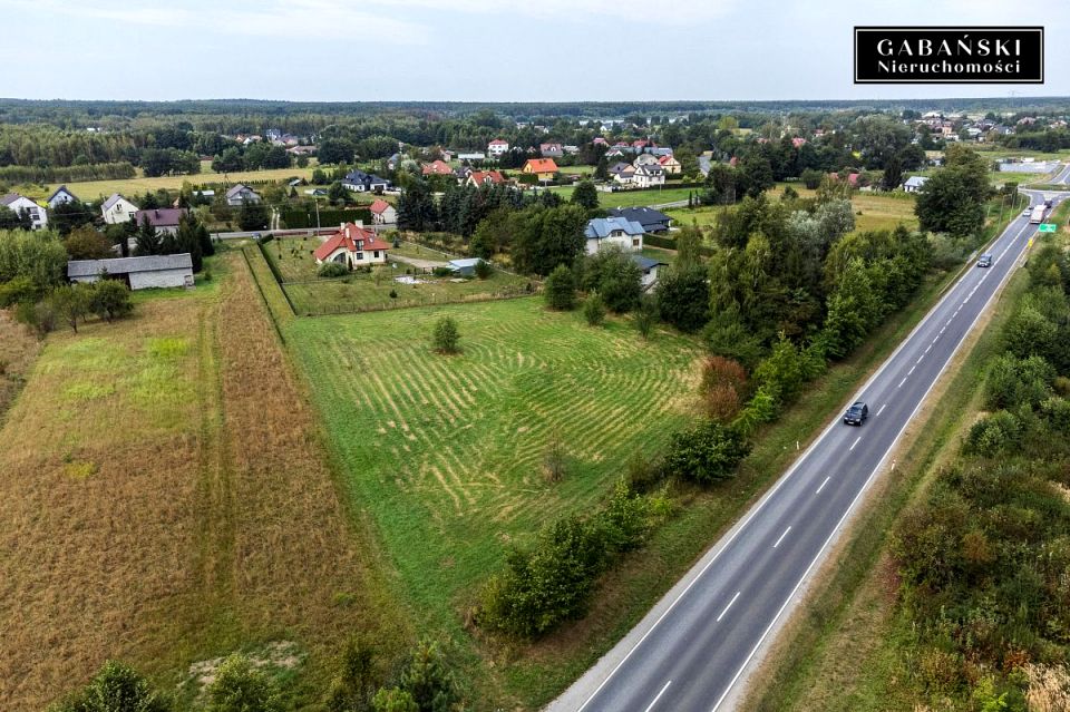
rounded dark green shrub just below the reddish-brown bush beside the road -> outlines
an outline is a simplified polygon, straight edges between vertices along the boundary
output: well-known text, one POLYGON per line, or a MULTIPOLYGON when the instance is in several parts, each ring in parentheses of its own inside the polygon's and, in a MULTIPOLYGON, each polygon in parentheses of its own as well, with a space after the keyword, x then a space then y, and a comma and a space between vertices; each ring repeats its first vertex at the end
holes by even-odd
POLYGON ((709 485, 736 476, 750 445, 731 428, 708 420, 672 436, 665 469, 683 479, 709 485))

